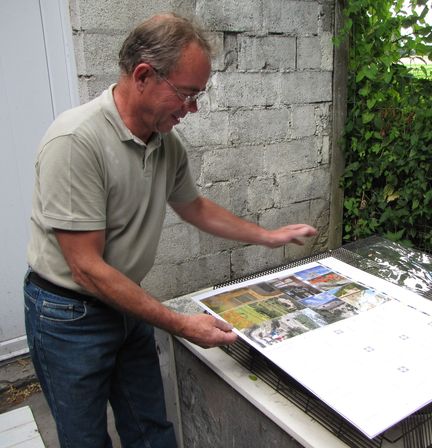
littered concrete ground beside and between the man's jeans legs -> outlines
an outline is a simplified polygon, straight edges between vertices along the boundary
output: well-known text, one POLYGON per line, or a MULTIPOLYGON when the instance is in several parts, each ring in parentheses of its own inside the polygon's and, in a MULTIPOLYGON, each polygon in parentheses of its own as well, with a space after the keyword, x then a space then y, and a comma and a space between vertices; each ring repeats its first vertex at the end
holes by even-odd
MULTIPOLYGON (((55 423, 42 392, 38 391, 36 375, 29 358, 0 364, 0 414, 30 406, 46 448, 59 448, 55 423)), ((114 417, 108 408, 108 431, 113 448, 121 448, 115 431, 114 417)))

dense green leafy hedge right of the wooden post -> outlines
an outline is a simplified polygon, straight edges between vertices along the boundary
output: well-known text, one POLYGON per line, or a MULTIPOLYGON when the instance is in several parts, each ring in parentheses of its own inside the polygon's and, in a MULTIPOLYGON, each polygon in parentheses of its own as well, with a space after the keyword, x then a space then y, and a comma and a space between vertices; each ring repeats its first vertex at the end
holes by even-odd
POLYGON ((411 1, 411 13, 396 0, 349 0, 345 8, 336 39, 350 39, 345 241, 380 234, 432 251, 432 78, 400 62, 432 60, 430 3, 411 1))

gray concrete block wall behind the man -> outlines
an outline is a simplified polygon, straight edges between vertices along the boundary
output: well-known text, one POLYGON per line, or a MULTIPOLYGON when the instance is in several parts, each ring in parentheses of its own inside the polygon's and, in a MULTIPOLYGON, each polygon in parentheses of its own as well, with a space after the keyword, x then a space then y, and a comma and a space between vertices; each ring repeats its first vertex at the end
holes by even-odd
POLYGON ((202 193, 268 228, 320 234, 279 249, 205 235, 167 214, 143 286, 161 300, 328 248, 337 0, 70 0, 80 98, 118 76, 129 30, 160 11, 194 17, 217 53, 203 113, 177 126, 202 193))

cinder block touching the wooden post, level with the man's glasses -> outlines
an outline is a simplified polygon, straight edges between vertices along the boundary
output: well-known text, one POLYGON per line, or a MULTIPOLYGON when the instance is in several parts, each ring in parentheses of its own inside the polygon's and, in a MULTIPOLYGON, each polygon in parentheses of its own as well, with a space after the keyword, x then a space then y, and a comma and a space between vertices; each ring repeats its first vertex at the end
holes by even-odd
POLYGON ((331 100, 331 72, 305 71, 281 75, 282 103, 321 103, 331 100))

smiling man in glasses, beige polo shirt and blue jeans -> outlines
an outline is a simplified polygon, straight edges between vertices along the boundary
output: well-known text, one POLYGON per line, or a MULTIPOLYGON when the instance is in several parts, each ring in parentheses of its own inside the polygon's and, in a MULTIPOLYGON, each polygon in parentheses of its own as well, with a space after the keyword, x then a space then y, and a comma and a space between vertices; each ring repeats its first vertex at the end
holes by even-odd
POLYGON ((171 311, 140 288, 166 202, 199 229, 248 243, 316 233, 263 229, 197 193, 172 128, 197 111, 210 75, 199 29, 155 16, 125 40, 120 68, 117 84, 55 120, 36 162, 26 328, 62 447, 110 447, 108 401, 123 446, 174 447, 153 326, 204 347, 236 339, 230 325, 171 311))

